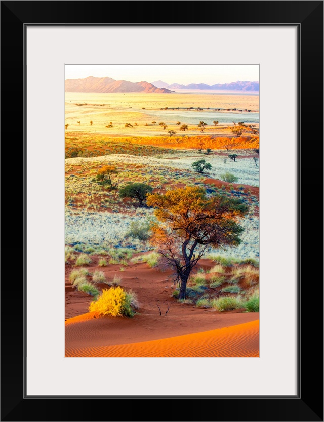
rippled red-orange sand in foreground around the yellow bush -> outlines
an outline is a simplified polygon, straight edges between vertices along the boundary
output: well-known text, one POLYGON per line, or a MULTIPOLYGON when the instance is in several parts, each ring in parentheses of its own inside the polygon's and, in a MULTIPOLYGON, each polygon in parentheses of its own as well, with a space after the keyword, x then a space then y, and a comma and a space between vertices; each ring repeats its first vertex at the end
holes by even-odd
MULTIPOLYGON (((97 266, 93 256, 89 270, 97 266)), ((207 269, 214 261, 202 259, 207 269)), ((107 278, 119 273, 120 265, 101 267, 107 278)), ((207 357, 259 356, 259 313, 243 310, 216 312, 180 304, 171 296, 175 285, 170 270, 161 272, 146 263, 134 263, 122 273, 121 286, 133 289, 140 302, 134 318, 96 317, 88 312, 91 298, 77 292, 65 278, 65 356, 207 357), (162 315, 159 315, 158 306, 162 315), (167 315, 165 312, 168 310, 167 315)), ((119 275, 121 275, 119 273, 119 275)), ((106 288, 98 284, 99 289, 106 288)))

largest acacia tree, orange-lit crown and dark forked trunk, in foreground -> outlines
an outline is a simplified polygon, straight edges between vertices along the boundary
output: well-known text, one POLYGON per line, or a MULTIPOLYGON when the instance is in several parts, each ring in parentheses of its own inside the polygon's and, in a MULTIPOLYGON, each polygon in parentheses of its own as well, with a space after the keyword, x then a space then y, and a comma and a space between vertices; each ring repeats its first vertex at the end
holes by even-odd
POLYGON ((174 269, 180 285, 179 299, 186 298, 189 275, 209 246, 238 245, 244 230, 236 222, 248 207, 241 199, 223 195, 208 197, 199 187, 169 190, 147 195, 155 207, 150 242, 174 269))

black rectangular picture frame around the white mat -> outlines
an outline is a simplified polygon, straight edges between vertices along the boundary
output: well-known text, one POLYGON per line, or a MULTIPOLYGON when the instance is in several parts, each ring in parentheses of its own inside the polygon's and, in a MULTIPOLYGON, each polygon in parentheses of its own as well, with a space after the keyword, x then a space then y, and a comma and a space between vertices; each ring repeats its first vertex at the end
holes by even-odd
MULTIPOLYGON (((322 253, 318 260, 319 250, 316 249, 317 252, 314 252, 313 246, 316 240, 315 234, 318 236, 319 233, 320 236, 322 233, 320 232, 322 226, 319 223, 322 218, 321 216, 319 216, 320 220, 318 218, 316 201, 322 199, 322 183, 318 183, 322 180, 322 171, 318 177, 318 168, 322 170, 323 161, 323 1, 176 1, 169 3, 167 1, 150 3, 141 1, 1 1, 1 35, 3 121, 1 131, 3 144, 5 144, 3 156, 6 159, 7 154, 11 153, 6 139, 12 137, 14 127, 16 145, 19 145, 15 153, 18 154, 20 150, 20 168, 23 169, 20 175, 19 172, 13 172, 10 179, 11 183, 14 181, 15 186, 20 187, 22 195, 18 208, 23 209, 23 218, 16 221, 14 238, 7 242, 6 236, 6 248, 3 254, 3 256, 7 255, 8 261, 6 259, 3 264, 4 277, 1 283, 1 420, 323 421, 322 253), (114 10, 114 13, 103 13, 105 7, 108 6, 110 10, 114 10), (100 7, 100 13, 97 13, 98 7, 100 7), (155 12, 145 15, 144 11, 147 8, 155 12), (165 13, 168 8, 172 8, 170 17, 165 13), (164 13, 159 13, 160 10, 164 13), (163 397, 25 396, 26 111, 24 78, 26 51, 24 35, 27 24, 226 24, 296 25, 298 27, 298 222, 300 229, 298 233, 299 371, 296 396, 215 398, 182 396, 181 392, 179 396, 163 397), (20 116, 18 121, 11 113, 12 110, 15 110, 15 116, 20 116), (311 204, 312 200, 315 205, 311 204), (318 223, 315 224, 313 219, 318 219, 318 223), (313 224, 311 224, 312 221, 313 224), (17 242, 17 237, 19 242, 17 242), (19 280, 15 281, 15 290, 13 291, 10 287, 10 292, 8 292, 8 282, 12 282, 12 276, 6 269, 10 269, 9 263, 12 262, 13 257, 11 254, 6 254, 6 251, 12 251, 13 248, 15 248, 15 255, 19 248, 19 260, 24 264, 19 280), (316 270, 318 272, 315 272, 316 270), (315 288, 315 292, 310 290, 310 284, 313 289, 315 288), (315 327, 318 337, 314 338, 313 331, 309 327, 315 327), (82 401, 77 402, 77 400, 82 401), (177 402, 176 405, 174 400, 177 402), (174 410, 175 408, 177 410, 174 410)), ((8 173, 6 176, 8 177, 8 173)), ((3 183, 2 193, 3 197, 10 198, 12 188, 9 183, 6 183, 7 177, 3 183)), ((8 215, 5 218, 7 222, 7 218, 12 219, 12 216, 8 215)), ((319 241, 322 244, 321 237, 319 241)), ((322 252, 321 249, 320 252, 322 252)))

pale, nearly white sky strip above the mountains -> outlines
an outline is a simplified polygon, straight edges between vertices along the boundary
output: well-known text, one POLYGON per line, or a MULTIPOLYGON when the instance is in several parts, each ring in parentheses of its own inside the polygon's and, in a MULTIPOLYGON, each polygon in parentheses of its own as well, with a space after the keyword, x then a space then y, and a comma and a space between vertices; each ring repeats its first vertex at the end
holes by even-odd
POLYGON ((65 79, 109 76, 115 80, 162 80, 187 85, 259 81, 258 64, 65 64, 65 79))

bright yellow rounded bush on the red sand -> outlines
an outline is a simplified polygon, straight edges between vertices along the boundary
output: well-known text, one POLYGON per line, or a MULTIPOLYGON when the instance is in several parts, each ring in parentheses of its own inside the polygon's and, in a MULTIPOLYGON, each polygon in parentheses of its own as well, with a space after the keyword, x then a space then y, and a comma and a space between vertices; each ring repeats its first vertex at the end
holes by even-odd
POLYGON ((130 297, 120 286, 103 289, 98 299, 90 303, 89 310, 97 315, 133 316, 130 297))

